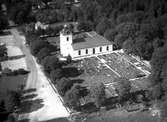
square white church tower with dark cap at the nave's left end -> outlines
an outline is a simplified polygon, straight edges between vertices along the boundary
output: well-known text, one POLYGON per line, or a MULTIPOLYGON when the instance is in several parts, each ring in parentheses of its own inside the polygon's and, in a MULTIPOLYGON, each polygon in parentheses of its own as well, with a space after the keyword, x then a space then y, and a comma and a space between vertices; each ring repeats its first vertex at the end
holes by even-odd
POLYGON ((63 30, 60 32, 60 53, 65 57, 71 56, 73 53, 72 32, 67 25, 64 25, 63 30))

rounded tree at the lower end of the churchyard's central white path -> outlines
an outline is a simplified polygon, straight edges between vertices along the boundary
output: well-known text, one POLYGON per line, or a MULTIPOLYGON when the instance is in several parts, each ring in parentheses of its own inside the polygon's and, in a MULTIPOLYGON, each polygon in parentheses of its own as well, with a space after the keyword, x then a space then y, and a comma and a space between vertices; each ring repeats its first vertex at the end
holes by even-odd
POLYGON ((128 94, 131 90, 131 82, 124 78, 116 78, 114 82, 117 82, 116 91, 118 92, 118 96, 122 99, 126 94, 128 94))

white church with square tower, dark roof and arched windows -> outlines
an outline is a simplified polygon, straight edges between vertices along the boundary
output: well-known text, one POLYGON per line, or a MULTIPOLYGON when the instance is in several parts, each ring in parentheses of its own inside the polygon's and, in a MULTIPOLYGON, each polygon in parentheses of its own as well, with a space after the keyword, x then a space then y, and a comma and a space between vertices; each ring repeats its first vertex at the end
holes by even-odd
POLYGON ((73 34, 67 25, 60 32, 60 54, 80 59, 111 53, 113 44, 94 31, 73 34))

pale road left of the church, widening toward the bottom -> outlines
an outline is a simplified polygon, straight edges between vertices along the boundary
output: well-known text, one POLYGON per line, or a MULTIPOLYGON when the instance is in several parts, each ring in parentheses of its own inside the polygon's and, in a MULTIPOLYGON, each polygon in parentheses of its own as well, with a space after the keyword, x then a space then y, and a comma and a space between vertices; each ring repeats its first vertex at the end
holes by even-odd
POLYGON ((35 58, 31 55, 29 48, 25 46, 25 38, 21 36, 16 29, 10 30, 14 36, 14 43, 26 56, 26 63, 30 71, 25 89, 35 88, 37 97, 42 99, 43 107, 29 114, 22 114, 21 119, 30 119, 31 122, 45 121, 56 118, 69 116, 69 111, 64 107, 61 97, 55 87, 44 75, 41 66, 36 63, 35 58))

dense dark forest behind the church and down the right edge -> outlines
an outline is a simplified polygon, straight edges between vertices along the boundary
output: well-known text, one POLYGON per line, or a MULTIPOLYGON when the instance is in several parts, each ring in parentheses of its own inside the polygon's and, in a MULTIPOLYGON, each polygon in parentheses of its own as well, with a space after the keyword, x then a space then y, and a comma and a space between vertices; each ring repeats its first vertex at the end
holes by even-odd
MULTIPOLYGON (((66 5, 72 0, 42 0, 45 7, 37 12, 38 0, 4 0, 9 18, 17 24, 41 21, 78 22, 79 31, 95 30, 114 42, 115 49, 150 61, 152 99, 167 116, 167 1, 166 0, 80 0, 80 5, 66 5), (55 1, 55 6, 47 2, 55 1)), ((72 1, 73 2, 73 1, 72 1)), ((3 20, 0 16, 0 27, 3 20)))

